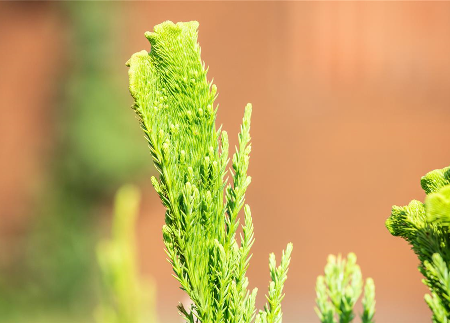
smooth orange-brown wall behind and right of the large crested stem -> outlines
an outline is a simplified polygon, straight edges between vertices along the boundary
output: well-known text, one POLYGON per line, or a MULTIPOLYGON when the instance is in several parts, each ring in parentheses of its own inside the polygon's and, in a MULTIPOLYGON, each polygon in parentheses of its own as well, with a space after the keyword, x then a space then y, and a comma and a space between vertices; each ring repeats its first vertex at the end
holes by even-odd
MULTIPOLYGON (((423 199, 420 177, 450 163, 449 14, 440 2, 130 2, 117 17, 125 21, 114 53, 121 65, 150 48, 144 32, 153 25, 200 22, 230 146, 253 103, 250 287, 259 287, 261 305, 268 255, 292 241, 286 322, 317 321, 315 277, 329 253, 349 251, 375 280, 378 322, 430 321, 417 259, 384 220, 393 204, 423 199)), ((123 77, 126 91, 125 67, 123 77)), ((176 322, 184 295, 162 250, 163 210, 150 185, 144 197, 142 271, 156 281, 161 320, 176 322)))

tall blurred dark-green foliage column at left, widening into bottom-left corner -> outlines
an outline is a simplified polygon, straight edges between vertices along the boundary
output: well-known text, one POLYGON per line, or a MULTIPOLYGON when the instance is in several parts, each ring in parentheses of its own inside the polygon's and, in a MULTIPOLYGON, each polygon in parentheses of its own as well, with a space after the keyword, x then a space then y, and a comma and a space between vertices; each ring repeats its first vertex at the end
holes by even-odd
POLYGON ((8 322, 86 321, 98 298, 100 206, 122 182, 142 175, 149 161, 133 111, 125 108, 131 101, 116 55, 120 19, 114 19, 121 4, 55 6, 67 17, 68 64, 55 84, 62 93, 53 107, 55 149, 26 251, 19 263, 1 268, 8 281, 0 280, 0 314, 8 322))

